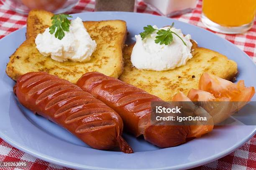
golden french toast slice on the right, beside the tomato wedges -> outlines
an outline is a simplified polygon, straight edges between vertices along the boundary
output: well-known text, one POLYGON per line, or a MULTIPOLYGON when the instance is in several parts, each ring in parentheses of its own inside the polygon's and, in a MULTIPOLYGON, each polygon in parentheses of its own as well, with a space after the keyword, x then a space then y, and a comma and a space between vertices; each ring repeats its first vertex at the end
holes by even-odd
POLYGON ((218 52, 197 47, 193 41, 193 58, 187 64, 173 70, 154 71, 138 70, 131 63, 133 45, 123 49, 124 71, 120 80, 139 87, 146 92, 156 95, 165 101, 172 101, 172 97, 182 91, 187 95, 191 88, 198 89, 200 76, 204 72, 217 75, 227 80, 233 80, 237 75, 237 64, 228 60, 218 52))

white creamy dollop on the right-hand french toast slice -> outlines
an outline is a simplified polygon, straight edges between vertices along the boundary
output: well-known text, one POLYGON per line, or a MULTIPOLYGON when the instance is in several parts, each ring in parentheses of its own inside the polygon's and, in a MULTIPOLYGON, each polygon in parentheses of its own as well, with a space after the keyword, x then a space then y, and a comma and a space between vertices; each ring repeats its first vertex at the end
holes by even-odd
MULTIPOLYGON (((153 28, 158 29, 156 25, 153 28)), ((160 29, 167 30, 169 27, 160 29)), ((172 34, 173 41, 169 45, 155 43, 157 31, 143 40, 141 35, 135 35, 136 44, 131 54, 132 64, 138 69, 156 71, 171 70, 185 65, 193 57, 191 54, 191 36, 189 34, 184 36, 182 31, 176 28, 171 28, 171 30, 179 35, 186 45, 174 34, 172 34)))

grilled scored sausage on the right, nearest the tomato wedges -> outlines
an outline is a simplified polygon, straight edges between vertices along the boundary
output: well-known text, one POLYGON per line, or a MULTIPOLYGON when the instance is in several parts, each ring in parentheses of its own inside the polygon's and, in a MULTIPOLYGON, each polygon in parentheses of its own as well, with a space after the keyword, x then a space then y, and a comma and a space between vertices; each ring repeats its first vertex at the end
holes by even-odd
POLYGON ((164 102, 159 97, 99 72, 84 74, 77 85, 118 112, 125 130, 136 137, 143 135, 145 140, 161 148, 186 141, 189 126, 151 125, 151 102, 164 102))

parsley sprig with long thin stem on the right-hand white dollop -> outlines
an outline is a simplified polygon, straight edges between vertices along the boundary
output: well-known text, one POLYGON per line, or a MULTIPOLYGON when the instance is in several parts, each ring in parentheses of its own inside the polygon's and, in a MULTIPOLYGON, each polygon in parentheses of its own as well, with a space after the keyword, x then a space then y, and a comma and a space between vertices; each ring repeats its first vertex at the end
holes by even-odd
MULTIPOLYGON (((160 43, 160 45, 165 44, 165 45, 169 45, 172 41, 173 41, 173 35, 176 35, 177 37, 179 37, 179 39, 182 40, 182 42, 184 43, 184 45, 186 45, 186 43, 184 42, 184 40, 176 33, 173 32, 171 30, 171 28, 174 26, 174 23, 172 23, 172 25, 167 29, 167 30, 158 30, 153 28, 151 25, 147 25, 147 27, 143 28, 143 32, 140 33, 142 40, 145 39, 148 35, 151 35, 154 31, 157 31, 156 34, 156 44, 160 43)), ((187 45, 186 45, 187 46, 187 45)))

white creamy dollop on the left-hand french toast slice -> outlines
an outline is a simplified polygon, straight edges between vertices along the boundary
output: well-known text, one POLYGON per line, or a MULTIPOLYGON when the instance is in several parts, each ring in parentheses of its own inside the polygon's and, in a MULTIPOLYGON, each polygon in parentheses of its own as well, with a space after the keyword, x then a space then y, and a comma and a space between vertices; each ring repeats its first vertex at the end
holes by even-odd
MULTIPOLYGON (((55 30, 56 31, 56 30, 55 30)), ((85 62, 91 59, 96 49, 96 42, 92 40, 81 18, 71 21, 69 31, 59 40, 50 34, 49 28, 36 37, 36 48, 44 56, 51 56, 53 60, 64 62, 69 60, 85 62)))

